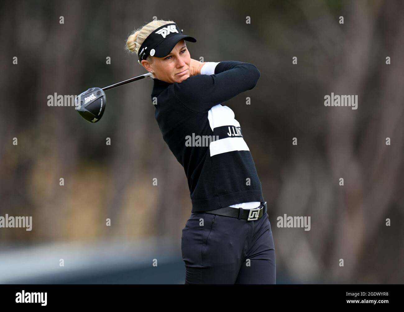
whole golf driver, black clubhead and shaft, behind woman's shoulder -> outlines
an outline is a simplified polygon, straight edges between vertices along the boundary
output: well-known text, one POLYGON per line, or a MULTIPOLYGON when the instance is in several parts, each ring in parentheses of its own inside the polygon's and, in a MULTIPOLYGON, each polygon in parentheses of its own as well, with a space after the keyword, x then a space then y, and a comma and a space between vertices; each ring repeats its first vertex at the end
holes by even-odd
POLYGON ((76 107, 78 107, 78 113, 88 122, 95 123, 99 121, 104 114, 105 104, 107 103, 107 97, 105 96, 104 91, 115 88, 117 86, 122 86, 122 84, 127 84, 129 82, 146 78, 150 75, 151 73, 146 73, 134 78, 130 78, 128 80, 118 82, 116 84, 111 84, 110 86, 106 86, 102 89, 95 87, 84 91, 76 97, 76 107), (82 98, 84 98, 84 103, 81 100, 82 98))

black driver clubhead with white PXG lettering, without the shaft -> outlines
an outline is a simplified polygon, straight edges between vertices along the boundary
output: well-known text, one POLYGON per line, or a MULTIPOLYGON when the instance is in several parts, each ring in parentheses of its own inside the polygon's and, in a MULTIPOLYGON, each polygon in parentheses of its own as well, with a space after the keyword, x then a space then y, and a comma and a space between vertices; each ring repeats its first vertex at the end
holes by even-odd
POLYGON ((105 93, 100 88, 90 88, 76 97, 76 109, 78 113, 92 124, 101 119, 106 103, 105 93))

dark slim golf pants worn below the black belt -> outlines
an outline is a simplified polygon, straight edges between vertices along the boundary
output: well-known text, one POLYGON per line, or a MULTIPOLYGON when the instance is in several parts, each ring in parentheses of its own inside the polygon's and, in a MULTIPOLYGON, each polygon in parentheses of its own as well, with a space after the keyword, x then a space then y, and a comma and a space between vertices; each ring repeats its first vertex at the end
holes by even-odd
POLYGON ((267 213, 251 221, 191 213, 182 230, 181 252, 185 284, 276 283, 275 247, 267 213))

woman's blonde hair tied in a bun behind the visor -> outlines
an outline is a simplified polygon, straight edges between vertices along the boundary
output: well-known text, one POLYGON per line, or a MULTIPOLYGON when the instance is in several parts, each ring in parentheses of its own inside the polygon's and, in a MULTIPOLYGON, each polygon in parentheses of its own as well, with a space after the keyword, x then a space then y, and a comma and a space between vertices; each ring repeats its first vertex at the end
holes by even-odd
MULTIPOLYGON (((138 29, 135 29, 135 31, 132 32, 132 34, 129 35, 128 39, 126 40, 126 46, 125 50, 128 53, 134 53, 136 54, 136 59, 138 59, 138 53, 139 53, 139 48, 142 46, 143 41, 146 40, 147 36, 151 34, 154 30, 156 30, 158 27, 169 24, 169 23, 174 23, 174 21, 164 21, 162 19, 158 19, 156 21, 151 21, 150 23, 147 23, 143 27, 140 27, 138 29)), ((153 57, 150 55, 147 56, 147 61, 150 63, 153 62, 153 57)), ((139 62, 137 62, 139 63, 139 62)), ((143 67, 143 65, 140 63, 140 65, 143 67)), ((153 73, 149 76, 151 79, 155 78, 153 73)))

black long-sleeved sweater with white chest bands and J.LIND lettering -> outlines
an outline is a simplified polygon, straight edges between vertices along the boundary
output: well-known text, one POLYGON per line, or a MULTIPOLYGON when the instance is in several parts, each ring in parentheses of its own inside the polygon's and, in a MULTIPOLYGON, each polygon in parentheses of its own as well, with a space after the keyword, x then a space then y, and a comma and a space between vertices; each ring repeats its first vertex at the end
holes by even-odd
POLYGON ((214 74, 191 76, 181 83, 153 79, 154 116, 168 148, 184 167, 191 212, 264 202, 240 124, 234 112, 221 105, 254 88, 260 76, 250 63, 221 61, 214 74))

